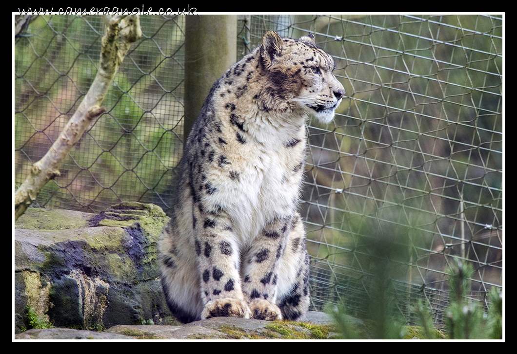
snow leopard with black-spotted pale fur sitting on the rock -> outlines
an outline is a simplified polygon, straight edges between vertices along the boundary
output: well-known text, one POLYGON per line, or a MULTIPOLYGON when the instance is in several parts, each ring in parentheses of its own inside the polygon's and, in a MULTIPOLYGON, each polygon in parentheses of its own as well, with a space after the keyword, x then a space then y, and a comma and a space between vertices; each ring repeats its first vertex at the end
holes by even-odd
POLYGON ((212 87, 159 243, 163 291, 180 321, 307 312, 309 254, 297 212, 306 118, 333 118, 344 94, 333 69, 312 36, 269 31, 212 87))

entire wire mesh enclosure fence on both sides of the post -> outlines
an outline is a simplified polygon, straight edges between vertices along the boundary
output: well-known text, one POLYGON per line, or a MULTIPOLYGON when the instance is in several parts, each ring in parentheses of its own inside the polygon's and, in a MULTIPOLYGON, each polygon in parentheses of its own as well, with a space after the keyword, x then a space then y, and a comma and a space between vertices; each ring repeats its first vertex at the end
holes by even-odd
MULTIPOLYGON (((168 210, 184 140, 184 21, 141 16, 142 39, 107 112, 37 206, 99 212, 140 201, 168 210)), ((503 285, 502 16, 242 15, 238 55, 270 29, 315 34, 346 91, 335 121, 309 128, 301 211, 312 308, 343 301, 364 313, 372 245, 396 262, 406 318, 407 305, 424 299, 441 323, 452 256, 474 265, 469 296, 486 305, 486 292, 503 285)), ((15 185, 79 106, 102 35, 97 16, 40 15, 15 40, 15 185)))

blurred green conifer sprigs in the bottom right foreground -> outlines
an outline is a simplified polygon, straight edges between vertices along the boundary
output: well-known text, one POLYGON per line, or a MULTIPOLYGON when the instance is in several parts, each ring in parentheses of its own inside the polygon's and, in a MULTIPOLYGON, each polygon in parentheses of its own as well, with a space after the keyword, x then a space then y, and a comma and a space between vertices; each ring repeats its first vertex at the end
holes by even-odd
POLYGON ((490 289, 489 309, 485 313, 478 303, 467 298, 469 279, 474 273, 472 265, 454 259, 449 273, 451 302, 444 313, 447 335, 434 327, 429 310, 422 301, 412 308, 420 319, 420 326, 404 326, 402 319, 393 311, 392 296, 386 291, 391 280, 382 270, 378 270, 378 279, 372 282, 372 298, 367 300, 370 319, 365 321, 365 328, 347 316, 343 304, 337 307, 327 305, 326 312, 334 319, 339 339, 503 339, 503 297, 498 289, 490 289))

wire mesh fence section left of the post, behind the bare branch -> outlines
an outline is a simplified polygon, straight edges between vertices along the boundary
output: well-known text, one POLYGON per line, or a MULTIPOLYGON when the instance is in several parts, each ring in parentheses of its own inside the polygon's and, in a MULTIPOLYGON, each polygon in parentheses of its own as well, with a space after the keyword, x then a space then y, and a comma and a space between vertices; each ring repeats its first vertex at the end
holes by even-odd
MULTIPOLYGON (((184 16, 142 16, 94 121, 37 204, 98 212, 120 201, 164 205, 183 148, 184 16)), ((40 15, 15 45, 15 174, 20 184, 97 73, 100 16, 40 15)))

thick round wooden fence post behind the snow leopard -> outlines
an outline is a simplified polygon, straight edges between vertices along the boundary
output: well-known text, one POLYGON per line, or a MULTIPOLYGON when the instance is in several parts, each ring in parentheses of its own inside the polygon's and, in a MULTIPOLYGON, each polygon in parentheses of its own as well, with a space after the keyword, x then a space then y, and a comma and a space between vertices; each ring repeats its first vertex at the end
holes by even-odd
POLYGON ((185 141, 210 88, 237 59, 237 15, 185 19, 185 141))

